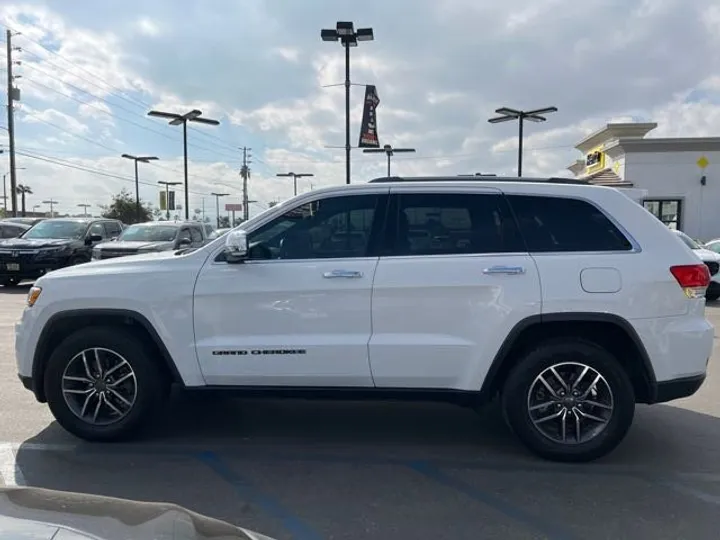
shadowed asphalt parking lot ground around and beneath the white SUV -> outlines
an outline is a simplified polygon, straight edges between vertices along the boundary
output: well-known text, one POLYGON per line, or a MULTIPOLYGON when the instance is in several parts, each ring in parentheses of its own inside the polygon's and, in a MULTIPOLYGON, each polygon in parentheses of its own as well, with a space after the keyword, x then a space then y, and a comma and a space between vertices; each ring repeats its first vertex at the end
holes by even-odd
MULTIPOLYGON (((169 501, 282 539, 717 539, 720 372, 690 399, 638 408, 587 465, 542 462, 498 411, 450 405, 173 396, 151 437, 83 443, 17 380, 27 287, 0 288, 6 485, 169 501)), ((720 307, 709 306, 715 325, 720 307)), ((715 350, 715 358, 718 358, 715 350)))

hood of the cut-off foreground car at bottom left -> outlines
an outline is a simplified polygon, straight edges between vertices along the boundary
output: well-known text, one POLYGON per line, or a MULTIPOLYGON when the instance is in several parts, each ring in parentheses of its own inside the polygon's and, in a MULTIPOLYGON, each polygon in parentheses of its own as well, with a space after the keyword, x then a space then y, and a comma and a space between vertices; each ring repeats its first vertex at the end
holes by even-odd
POLYGON ((272 540, 169 503, 38 488, 0 489, 8 540, 272 540))

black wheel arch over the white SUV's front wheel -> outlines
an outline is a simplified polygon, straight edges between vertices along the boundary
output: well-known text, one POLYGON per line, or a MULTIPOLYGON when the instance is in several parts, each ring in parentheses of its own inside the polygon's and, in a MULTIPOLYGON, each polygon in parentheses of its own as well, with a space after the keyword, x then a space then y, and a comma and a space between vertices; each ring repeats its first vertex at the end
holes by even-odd
POLYGON ((136 311, 126 309, 78 309, 54 314, 43 327, 35 347, 32 369, 32 389, 38 401, 46 401, 43 379, 47 362, 55 346, 67 336, 90 326, 122 326, 133 329, 160 359, 160 367, 171 383, 183 384, 165 343, 150 321, 136 311))

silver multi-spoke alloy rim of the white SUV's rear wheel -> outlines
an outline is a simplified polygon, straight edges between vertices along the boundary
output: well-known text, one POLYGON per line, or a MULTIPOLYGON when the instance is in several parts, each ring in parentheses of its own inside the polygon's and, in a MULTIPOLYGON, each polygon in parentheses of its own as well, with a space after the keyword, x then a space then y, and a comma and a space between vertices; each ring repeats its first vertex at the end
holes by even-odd
POLYGON ((580 362, 558 363, 543 370, 527 395, 527 410, 535 429, 566 445, 586 443, 600 435, 614 407, 607 379, 580 362))

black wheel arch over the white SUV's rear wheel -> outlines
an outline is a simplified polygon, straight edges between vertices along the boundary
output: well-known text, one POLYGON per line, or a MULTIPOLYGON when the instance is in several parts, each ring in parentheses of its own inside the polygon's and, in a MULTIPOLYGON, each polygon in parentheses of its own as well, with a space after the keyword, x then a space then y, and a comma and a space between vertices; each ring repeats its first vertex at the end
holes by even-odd
POLYGON ((633 326, 619 315, 592 312, 532 315, 517 323, 490 365, 480 390, 481 398, 492 399, 500 391, 510 370, 529 347, 564 336, 583 337, 608 349, 628 373, 637 401, 655 402, 655 370, 633 326))

